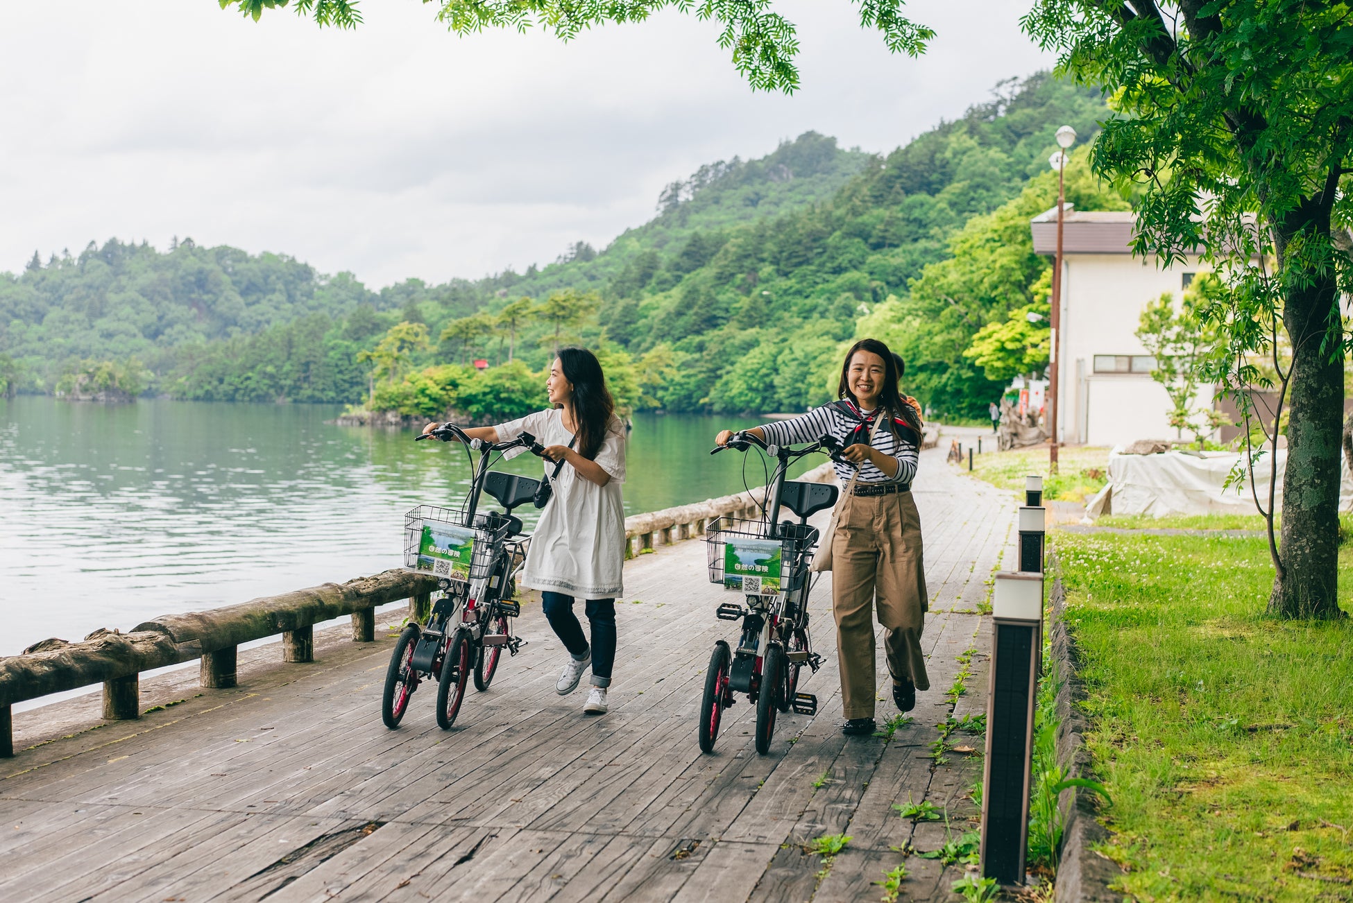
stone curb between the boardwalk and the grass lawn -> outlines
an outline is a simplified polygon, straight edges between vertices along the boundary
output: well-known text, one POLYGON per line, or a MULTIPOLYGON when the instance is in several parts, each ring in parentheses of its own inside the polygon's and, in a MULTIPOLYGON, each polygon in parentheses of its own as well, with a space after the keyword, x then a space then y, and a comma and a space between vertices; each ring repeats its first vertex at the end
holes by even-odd
MULTIPOLYGON (((1066 630, 1063 614, 1066 610, 1066 589, 1061 577, 1053 581, 1051 599, 1051 641, 1053 661, 1057 662, 1062 688, 1057 693, 1057 718, 1061 722, 1057 733, 1057 762, 1066 769, 1069 777, 1095 777, 1089 750, 1085 749, 1085 731, 1089 727, 1085 715, 1076 703, 1085 699, 1077 669, 1081 664, 1076 641, 1066 630)), ((1062 791, 1058 807, 1062 810, 1062 850, 1061 865, 1057 869, 1057 888, 1053 892, 1055 903, 1120 903, 1131 899, 1109 884, 1122 877, 1122 871, 1112 861, 1096 853, 1092 848, 1107 841, 1109 831, 1099 823, 1099 796, 1080 787, 1062 791)))

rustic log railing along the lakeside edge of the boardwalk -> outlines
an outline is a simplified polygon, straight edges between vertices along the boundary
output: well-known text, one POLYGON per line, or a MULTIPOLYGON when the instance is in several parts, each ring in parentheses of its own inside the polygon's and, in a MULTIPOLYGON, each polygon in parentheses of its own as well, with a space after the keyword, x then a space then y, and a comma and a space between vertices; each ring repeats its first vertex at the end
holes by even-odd
MULTIPOLYGON (((800 479, 829 480, 831 468, 823 465, 800 479)), ((701 535, 718 516, 756 516, 764 495, 759 487, 626 518, 625 557, 701 535)), ((0 757, 14 756, 15 703, 101 683, 104 718, 138 718, 143 670, 198 658, 203 687, 230 688, 237 683, 241 643, 281 634, 283 661, 314 661, 315 625, 350 615, 353 641, 373 642, 379 606, 407 599, 410 614, 421 616, 436 587, 430 576, 395 569, 223 608, 164 615, 130 633, 96 630, 81 642, 43 639, 18 656, 0 657, 0 757)))

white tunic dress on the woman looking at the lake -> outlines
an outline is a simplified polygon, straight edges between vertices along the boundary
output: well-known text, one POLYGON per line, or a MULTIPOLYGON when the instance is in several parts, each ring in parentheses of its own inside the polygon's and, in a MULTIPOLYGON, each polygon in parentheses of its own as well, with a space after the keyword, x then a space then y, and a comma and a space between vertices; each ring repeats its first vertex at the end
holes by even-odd
MULTIPOLYGON (((530 433, 541 445, 568 445, 574 438, 564 429, 560 408, 528 414, 497 429, 499 442, 510 442, 522 433, 530 433)), ((578 599, 616 599, 624 593, 625 442, 625 427, 612 418, 594 458, 610 474, 603 487, 578 476, 568 464, 560 468, 559 477, 552 480, 555 495, 530 538, 522 585, 578 599)), ((551 476, 555 462, 544 465, 545 476, 551 476)))

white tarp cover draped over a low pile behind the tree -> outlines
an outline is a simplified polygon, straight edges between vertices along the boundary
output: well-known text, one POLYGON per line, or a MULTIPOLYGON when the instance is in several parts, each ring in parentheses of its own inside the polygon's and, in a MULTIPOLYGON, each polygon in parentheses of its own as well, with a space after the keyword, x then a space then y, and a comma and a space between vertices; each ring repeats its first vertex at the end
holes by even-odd
MULTIPOLYGON (((1256 514, 1254 497, 1249 479, 1245 489, 1237 492, 1235 485, 1223 489, 1227 474, 1241 456, 1234 452, 1196 453, 1164 452, 1160 454, 1120 454, 1118 449, 1108 456, 1107 499, 1096 496, 1086 506, 1096 514, 1256 514), (1096 511, 1096 503, 1101 510, 1096 511), (1107 508, 1103 510, 1103 508, 1107 508)), ((1277 452, 1279 487, 1275 493, 1275 507, 1283 507, 1283 468, 1287 450, 1277 452)), ((1260 502, 1268 507, 1269 468, 1268 456, 1254 462, 1254 488, 1260 502)), ((1342 488, 1339 511, 1353 511, 1353 479, 1348 468, 1339 462, 1342 488)))

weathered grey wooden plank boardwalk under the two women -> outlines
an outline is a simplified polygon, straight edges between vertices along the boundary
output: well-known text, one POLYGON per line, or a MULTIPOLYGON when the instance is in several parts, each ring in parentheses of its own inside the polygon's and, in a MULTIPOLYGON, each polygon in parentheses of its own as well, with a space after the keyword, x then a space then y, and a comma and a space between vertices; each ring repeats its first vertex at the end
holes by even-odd
MULTIPOLYGON (((560 698, 563 650, 538 607, 490 691, 437 729, 430 685, 380 723, 394 643, 317 649, 310 665, 241 670, 138 722, 111 722, 0 764, 0 900, 866 900, 905 862, 900 899, 958 899, 935 850, 969 829, 978 756, 935 765, 936 725, 985 711, 989 618, 977 614, 1013 539, 1015 500, 923 456, 916 502, 932 596, 932 688, 892 738, 843 737, 828 576, 812 604, 825 666, 819 715, 781 715, 770 756, 754 707, 725 714, 713 756, 695 711, 721 597, 698 541, 626 565, 610 712, 560 698), (976 648, 967 693, 946 699, 976 648), (913 826, 894 803, 931 800, 913 826), (848 834, 824 869, 804 845, 848 834)), ((387 635, 390 634, 390 635, 387 635)), ((896 714, 879 652, 884 702, 896 714)), ((191 693, 189 693, 191 695, 191 693)), ((980 737, 954 743, 981 749, 980 737)))

